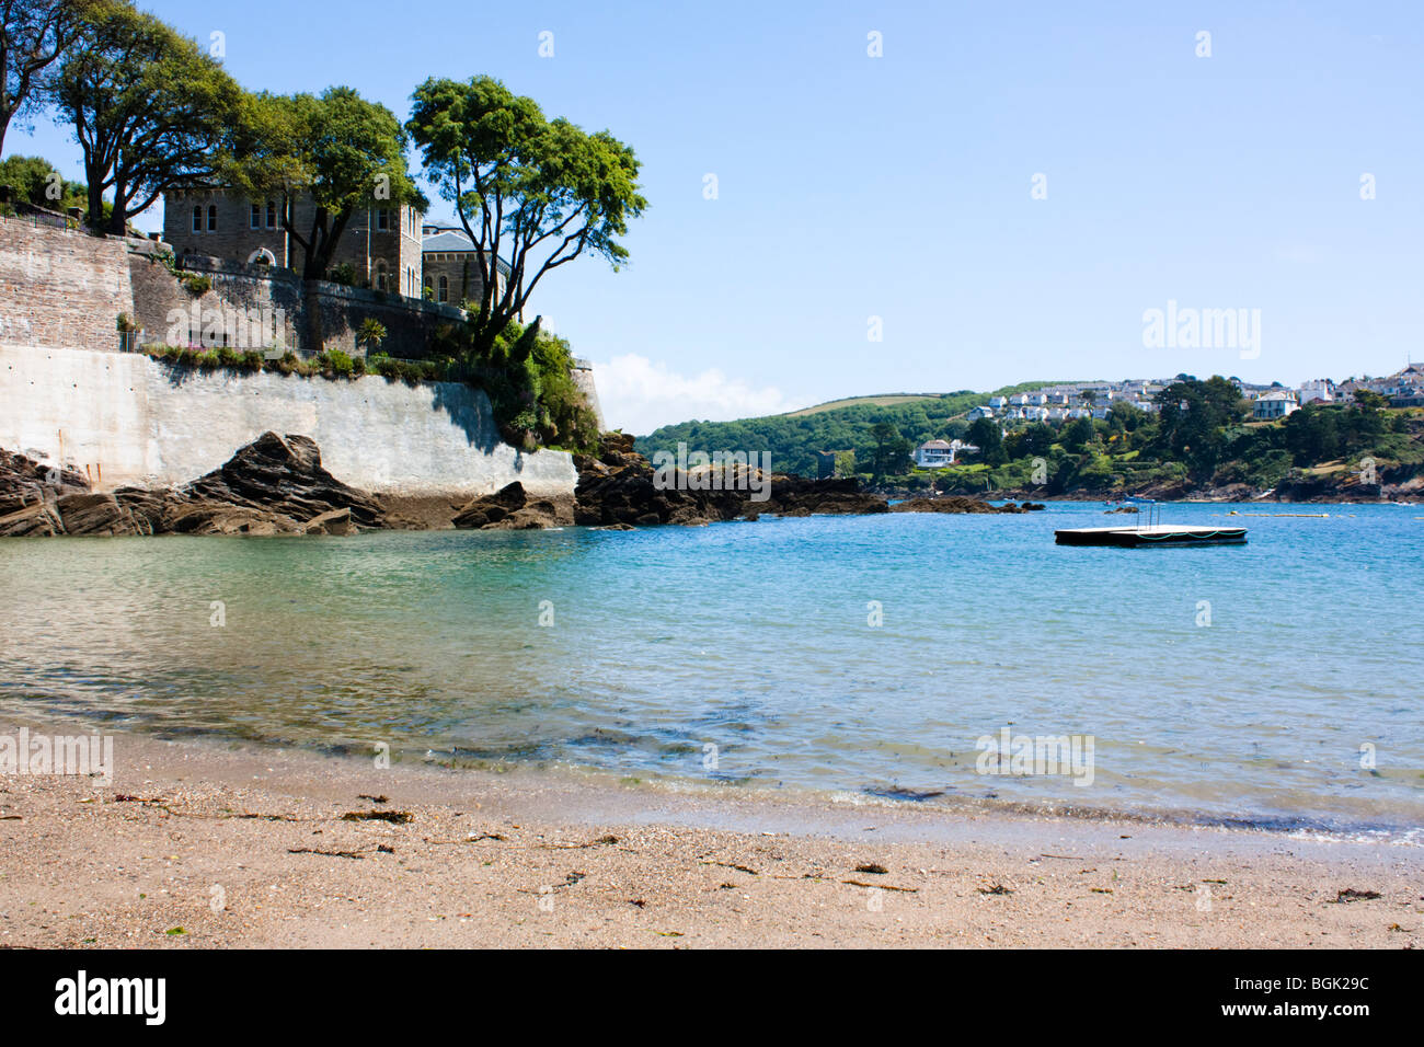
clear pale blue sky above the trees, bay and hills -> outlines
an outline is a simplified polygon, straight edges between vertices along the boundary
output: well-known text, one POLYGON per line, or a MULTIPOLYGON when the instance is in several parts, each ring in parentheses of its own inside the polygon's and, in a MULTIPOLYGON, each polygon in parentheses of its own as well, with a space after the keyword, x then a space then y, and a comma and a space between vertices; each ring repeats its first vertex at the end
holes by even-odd
MULTIPOLYGON (((253 90, 350 84, 404 118, 426 77, 484 73, 629 142, 651 204, 632 265, 565 266, 533 306, 631 432, 863 393, 1297 383, 1424 358, 1413 0, 141 6, 225 33, 253 90), (1143 312, 1168 301, 1259 309, 1259 355, 1145 348, 1143 312)), ((80 174, 43 120, 7 152, 80 174)))

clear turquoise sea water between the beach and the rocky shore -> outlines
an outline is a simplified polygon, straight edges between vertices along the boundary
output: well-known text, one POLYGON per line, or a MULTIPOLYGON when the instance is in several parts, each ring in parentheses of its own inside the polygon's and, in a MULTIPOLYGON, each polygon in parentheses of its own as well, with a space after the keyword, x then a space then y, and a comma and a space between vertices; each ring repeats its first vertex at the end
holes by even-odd
POLYGON ((10 540, 0 718, 1424 842, 1424 507, 1163 517, 1250 543, 1057 547, 1055 527, 1131 523, 1071 503, 10 540), (1091 785, 980 773, 977 741, 1005 725, 1091 735, 1091 785))

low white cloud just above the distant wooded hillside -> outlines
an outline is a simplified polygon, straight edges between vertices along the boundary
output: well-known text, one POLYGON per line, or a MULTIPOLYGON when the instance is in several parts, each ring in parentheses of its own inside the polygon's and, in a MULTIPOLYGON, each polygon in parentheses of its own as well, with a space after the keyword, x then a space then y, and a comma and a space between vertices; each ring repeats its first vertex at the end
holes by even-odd
POLYGON ((594 383, 608 427, 639 436, 675 422, 731 422, 779 415, 796 406, 775 386, 756 389, 716 368, 688 377, 637 353, 595 362, 594 383))

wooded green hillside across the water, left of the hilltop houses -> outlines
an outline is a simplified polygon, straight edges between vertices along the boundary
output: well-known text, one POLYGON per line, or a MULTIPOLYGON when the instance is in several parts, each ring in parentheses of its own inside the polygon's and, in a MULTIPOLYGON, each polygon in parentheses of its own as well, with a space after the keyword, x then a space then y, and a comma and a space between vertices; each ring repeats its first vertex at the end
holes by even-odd
MULTIPOLYGON (((869 463, 874 450, 870 430, 889 422, 913 444, 963 436, 968 429, 964 413, 990 396, 1012 396, 1055 382, 1022 382, 988 393, 961 389, 956 393, 857 396, 832 400, 789 415, 740 419, 738 422, 682 422, 639 436, 637 447, 652 456, 675 452, 678 443, 692 450, 770 452, 779 473, 816 474, 816 452, 854 450, 859 463, 869 463)), ((863 466, 866 467, 866 466, 863 466)))

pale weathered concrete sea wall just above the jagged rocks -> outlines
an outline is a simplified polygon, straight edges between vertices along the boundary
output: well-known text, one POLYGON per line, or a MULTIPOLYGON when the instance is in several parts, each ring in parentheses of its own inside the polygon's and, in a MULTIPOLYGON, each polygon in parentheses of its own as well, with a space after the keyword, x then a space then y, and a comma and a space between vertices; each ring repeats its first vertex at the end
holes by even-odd
POLYGON ((440 382, 194 372, 140 353, 0 346, 0 447, 85 472, 101 490, 175 486, 266 430, 316 440, 353 487, 474 496, 518 480, 572 494, 562 452, 500 442, 488 397, 440 382))

